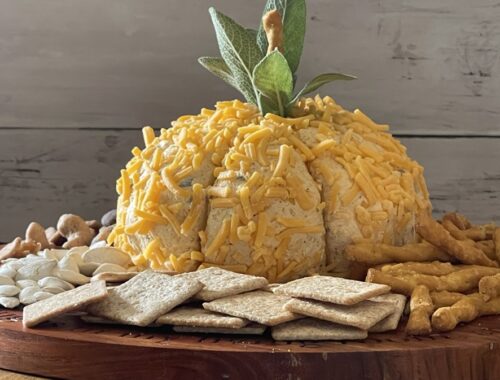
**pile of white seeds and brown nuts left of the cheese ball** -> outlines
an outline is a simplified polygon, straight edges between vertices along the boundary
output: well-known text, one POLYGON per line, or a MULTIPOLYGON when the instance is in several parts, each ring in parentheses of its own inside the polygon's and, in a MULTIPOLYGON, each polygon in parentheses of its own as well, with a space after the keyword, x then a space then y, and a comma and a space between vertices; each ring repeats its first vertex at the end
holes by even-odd
POLYGON ((0 305, 29 305, 106 274, 133 276, 129 256, 106 246, 115 215, 112 210, 99 223, 64 214, 57 228, 47 229, 30 223, 24 239, 0 249, 0 305))

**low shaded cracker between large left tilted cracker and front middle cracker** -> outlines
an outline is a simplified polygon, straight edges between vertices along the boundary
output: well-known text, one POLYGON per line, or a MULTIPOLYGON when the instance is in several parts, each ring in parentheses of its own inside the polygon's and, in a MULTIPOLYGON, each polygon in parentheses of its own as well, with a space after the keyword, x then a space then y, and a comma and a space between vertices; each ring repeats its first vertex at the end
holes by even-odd
POLYGON ((248 321, 243 318, 214 313, 201 307, 181 306, 156 320, 159 325, 218 327, 237 329, 244 327, 248 321))

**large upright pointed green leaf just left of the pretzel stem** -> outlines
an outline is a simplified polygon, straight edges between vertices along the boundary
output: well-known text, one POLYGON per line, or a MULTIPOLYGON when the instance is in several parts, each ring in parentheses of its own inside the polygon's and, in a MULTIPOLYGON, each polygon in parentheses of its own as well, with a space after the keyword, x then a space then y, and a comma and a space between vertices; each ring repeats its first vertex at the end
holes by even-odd
POLYGON ((250 103, 257 104, 257 92, 253 87, 253 70, 262 59, 254 34, 231 18, 209 10, 214 24, 222 58, 232 73, 237 88, 250 103))

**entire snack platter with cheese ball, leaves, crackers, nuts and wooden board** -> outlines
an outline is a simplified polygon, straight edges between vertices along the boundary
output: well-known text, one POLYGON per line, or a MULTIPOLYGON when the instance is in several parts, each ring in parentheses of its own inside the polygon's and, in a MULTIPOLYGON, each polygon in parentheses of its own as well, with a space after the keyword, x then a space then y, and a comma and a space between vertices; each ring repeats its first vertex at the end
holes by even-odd
POLYGON ((500 227, 440 219, 385 124, 293 95, 305 1, 210 9, 247 102, 160 133, 100 221, 0 244, 0 367, 62 378, 497 378, 500 227))

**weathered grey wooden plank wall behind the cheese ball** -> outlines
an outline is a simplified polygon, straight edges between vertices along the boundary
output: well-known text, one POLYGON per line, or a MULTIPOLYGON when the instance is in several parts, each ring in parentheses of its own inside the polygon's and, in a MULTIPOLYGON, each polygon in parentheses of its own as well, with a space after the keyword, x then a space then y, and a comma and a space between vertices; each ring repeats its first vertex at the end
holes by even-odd
MULTIPOLYGON (((0 0, 0 240, 32 219, 113 207, 144 124, 236 93, 204 72, 207 7, 255 26, 264 0, 0 0)), ((309 0, 304 81, 390 123, 436 210, 500 222, 500 3, 309 0)))

